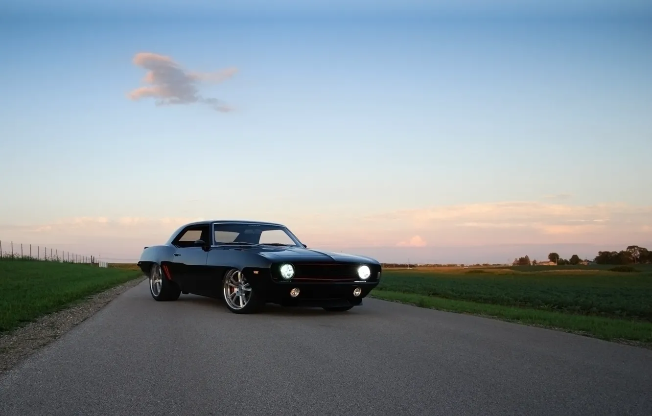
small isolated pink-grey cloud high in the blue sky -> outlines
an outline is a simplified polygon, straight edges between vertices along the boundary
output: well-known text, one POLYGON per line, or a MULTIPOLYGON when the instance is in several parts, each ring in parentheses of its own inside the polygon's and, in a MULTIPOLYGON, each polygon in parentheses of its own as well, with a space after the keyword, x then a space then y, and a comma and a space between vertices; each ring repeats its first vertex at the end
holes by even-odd
POLYGON ((155 98, 157 106, 200 103, 208 104, 217 111, 232 110, 217 98, 202 97, 196 85, 200 82, 222 82, 233 76, 237 68, 218 72, 186 72, 171 57, 151 52, 136 53, 133 62, 148 70, 143 82, 151 85, 131 91, 128 97, 132 100, 155 98))

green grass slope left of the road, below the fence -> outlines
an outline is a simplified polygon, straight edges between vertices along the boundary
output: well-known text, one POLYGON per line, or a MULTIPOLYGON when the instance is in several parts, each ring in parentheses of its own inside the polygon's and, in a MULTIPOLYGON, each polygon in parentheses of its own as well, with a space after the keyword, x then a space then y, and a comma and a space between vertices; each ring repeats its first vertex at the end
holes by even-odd
POLYGON ((0 333, 141 275, 86 264, 0 260, 0 333))

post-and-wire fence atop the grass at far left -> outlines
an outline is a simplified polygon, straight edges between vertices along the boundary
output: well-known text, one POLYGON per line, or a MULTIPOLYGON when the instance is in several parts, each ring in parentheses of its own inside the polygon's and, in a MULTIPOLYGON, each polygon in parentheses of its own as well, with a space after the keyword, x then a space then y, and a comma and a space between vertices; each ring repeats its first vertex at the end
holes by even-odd
POLYGON ((95 256, 78 254, 58 248, 40 245, 23 245, 13 241, 0 240, 0 260, 57 261, 59 263, 91 264, 108 267, 106 261, 97 260, 95 256))

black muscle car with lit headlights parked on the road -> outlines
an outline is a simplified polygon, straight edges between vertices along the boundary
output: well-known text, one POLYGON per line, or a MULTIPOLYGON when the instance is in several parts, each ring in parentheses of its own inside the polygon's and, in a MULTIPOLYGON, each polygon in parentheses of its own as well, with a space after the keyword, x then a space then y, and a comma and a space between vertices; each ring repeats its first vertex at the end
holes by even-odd
POLYGON ((201 221, 145 247, 138 267, 156 301, 181 293, 223 298, 231 312, 265 303, 345 311, 378 286, 378 261, 307 248, 286 226, 271 222, 201 221))

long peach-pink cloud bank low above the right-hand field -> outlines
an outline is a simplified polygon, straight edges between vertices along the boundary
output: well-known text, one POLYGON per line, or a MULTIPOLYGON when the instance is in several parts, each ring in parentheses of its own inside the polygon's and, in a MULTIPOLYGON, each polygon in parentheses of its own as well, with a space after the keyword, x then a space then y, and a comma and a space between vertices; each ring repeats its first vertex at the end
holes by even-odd
MULTIPOLYGON (((507 201, 378 213, 361 218, 358 224, 376 233, 379 241, 409 233, 426 239, 428 246, 602 243, 645 238, 649 218, 650 206, 507 201)), ((401 245, 409 246, 409 242, 401 245)))

